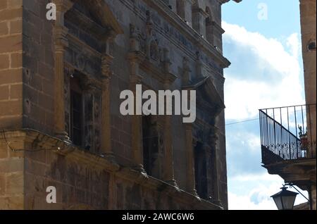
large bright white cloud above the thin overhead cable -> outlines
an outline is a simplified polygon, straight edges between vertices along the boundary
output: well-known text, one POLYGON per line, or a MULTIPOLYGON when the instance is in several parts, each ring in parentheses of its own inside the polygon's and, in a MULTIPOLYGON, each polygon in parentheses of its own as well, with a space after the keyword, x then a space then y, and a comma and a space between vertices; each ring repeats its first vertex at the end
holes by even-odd
POLYGON ((297 34, 287 38, 285 49, 277 39, 244 27, 225 22, 223 27, 224 44, 232 46, 226 53, 232 61, 225 70, 226 118, 244 120, 256 117, 259 108, 304 103, 297 34))

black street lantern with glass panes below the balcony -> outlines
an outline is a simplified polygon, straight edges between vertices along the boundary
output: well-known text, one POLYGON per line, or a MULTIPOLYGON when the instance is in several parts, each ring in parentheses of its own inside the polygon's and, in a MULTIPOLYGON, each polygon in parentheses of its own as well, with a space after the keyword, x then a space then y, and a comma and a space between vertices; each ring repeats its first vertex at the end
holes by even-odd
POLYGON ((280 192, 271 197, 278 207, 278 210, 292 210, 298 193, 288 191, 287 187, 282 187, 281 189, 280 192))

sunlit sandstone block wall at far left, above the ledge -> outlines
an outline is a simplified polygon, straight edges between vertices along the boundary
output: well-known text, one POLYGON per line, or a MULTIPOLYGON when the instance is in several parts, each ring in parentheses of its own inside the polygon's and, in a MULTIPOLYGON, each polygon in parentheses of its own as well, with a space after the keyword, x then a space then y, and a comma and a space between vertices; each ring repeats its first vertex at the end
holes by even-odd
POLYGON ((0 2, 0 128, 22 127, 22 1, 0 2))

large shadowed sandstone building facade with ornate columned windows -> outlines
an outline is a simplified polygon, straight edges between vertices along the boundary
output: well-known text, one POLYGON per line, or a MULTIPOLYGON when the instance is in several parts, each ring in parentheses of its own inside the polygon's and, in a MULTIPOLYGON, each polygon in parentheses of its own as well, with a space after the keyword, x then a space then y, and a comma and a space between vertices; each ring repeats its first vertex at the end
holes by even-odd
POLYGON ((228 0, 49 2, 0 1, 0 209, 228 209, 228 0), (196 121, 122 116, 138 84, 196 90, 196 121))

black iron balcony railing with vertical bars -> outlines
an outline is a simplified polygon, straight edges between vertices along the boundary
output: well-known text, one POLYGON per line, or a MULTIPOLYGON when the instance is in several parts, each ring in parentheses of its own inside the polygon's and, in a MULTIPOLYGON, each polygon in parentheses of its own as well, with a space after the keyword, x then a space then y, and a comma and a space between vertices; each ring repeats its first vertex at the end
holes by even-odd
POLYGON ((264 165, 316 158, 316 104, 266 108, 259 113, 264 165))

